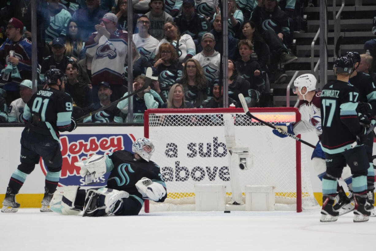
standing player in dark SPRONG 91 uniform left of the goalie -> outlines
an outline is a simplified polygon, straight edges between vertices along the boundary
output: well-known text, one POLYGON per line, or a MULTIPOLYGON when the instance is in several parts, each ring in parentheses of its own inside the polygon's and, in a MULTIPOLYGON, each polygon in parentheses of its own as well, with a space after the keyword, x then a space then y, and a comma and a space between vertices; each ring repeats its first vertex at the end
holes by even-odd
POLYGON ((67 77, 61 70, 51 69, 45 73, 45 80, 49 88, 34 93, 24 108, 22 118, 26 126, 21 134, 21 164, 9 180, 2 212, 17 212, 20 204, 16 202, 15 194, 40 157, 48 169, 41 211, 51 211, 47 207, 58 186, 62 166, 58 132, 73 131, 76 122, 71 117, 72 98, 64 92, 67 77))

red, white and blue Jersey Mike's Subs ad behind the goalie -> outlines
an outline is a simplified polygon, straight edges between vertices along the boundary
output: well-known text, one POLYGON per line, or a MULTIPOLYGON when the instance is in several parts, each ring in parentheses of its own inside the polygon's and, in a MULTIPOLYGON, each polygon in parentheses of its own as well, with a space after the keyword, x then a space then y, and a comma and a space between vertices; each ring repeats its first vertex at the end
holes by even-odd
MULTIPOLYGON (((80 167, 74 165, 77 161, 83 161, 92 154, 106 155, 118 150, 127 150, 132 152, 132 144, 136 138, 132 134, 67 134, 60 137, 60 149, 63 157, 63 165, 60 174, 59 187, 68 185, 84 185, 84 178, 80 176, 80 167)), ((39 165, 44 175, 47 174, 42 158, 39 159, 39 165)), ((103 187, 106 185, 104 180, 108 179, 109 173, 100 177, 100 183, 90 185, 103 187)))

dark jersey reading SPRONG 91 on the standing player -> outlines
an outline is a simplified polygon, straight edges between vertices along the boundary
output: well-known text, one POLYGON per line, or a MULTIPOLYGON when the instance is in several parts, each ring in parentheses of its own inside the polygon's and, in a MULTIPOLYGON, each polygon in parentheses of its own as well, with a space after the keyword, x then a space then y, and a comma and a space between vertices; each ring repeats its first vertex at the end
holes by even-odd
MULTIPOLYGON (((59 132, 70 129, 73 110, 69 94, 54 88, 38 90, 25 105, 25 122, 35 116, 39 122, 35 126, 50 130, 53 138, 59 141, 59 132)), ((33 122, 33 124, 35 121, 33 122)))

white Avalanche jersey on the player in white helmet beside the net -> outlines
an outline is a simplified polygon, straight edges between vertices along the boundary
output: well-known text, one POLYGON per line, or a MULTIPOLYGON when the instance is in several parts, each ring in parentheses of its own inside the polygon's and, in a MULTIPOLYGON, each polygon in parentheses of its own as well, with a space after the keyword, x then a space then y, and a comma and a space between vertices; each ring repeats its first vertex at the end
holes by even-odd
POLYGON ((311 102, 300 100, 298 108, 301 120, 294 125, 295 135, 315 130, 317 136, 321 136, 320 96, 321 92, 316 92, 311 102))

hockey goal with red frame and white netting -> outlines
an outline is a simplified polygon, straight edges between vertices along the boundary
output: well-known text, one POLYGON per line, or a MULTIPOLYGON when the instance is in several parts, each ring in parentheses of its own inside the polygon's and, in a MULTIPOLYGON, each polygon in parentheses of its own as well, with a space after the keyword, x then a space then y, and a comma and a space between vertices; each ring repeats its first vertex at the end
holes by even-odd
MULTIPOLYGON (((249 110, 271 124, 300 120, 298 109, 293 107, 249 110)), ((241 187, 274 185, 276 204, 296 204, 298 212, 302 211, 302 205, 316 205, 300 142, 277 137, 270 127, 248 117, 241 108, 149 109, 145 112, 144 136, 155 145, 152 160, 161 168, 167 186, 164 203, 194 204, 196 184, 224 184, 230 198, 230 158, 224 138, 224 113, 234 118, 236 144, 249 147, 253 156, 253 166, 241 171, 241 187)), ((148 202, 145 211, 149 211, 148 202)))

